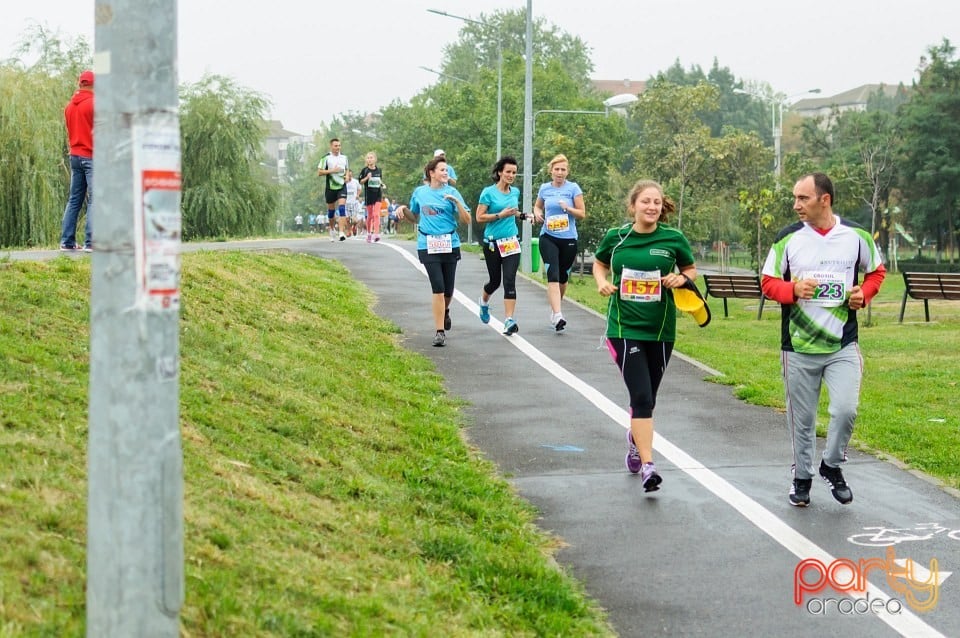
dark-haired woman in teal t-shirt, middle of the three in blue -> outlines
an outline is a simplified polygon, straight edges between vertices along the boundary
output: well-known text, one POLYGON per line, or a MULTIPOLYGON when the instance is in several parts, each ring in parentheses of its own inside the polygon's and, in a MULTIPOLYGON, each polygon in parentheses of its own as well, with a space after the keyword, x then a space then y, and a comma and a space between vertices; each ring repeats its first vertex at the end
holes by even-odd
POLYGON ((493 184, 480 193, 477 204, 477 222, 486 224, 483 229, 483 260, 487 264, 490 281, 483 285, 480 294, 480 321, 490 321, 490 295, 500 287, 503 280, 503 334, 512 335, 520 330, 513 319, 517 307, 517 268, 520 266, 520 239, 517 236, 517 218, 520 212, 520 189, 513 185, 517 178, 517 160, 501 157, 493 166, 493 184))

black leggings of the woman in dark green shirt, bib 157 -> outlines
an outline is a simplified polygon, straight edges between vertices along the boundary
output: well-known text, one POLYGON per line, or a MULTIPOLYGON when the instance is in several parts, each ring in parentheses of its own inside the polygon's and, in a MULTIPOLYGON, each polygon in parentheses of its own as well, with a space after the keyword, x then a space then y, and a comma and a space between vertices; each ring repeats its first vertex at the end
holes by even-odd
POLYGON ((673 353, 673 342, 608 337, 607 348, 630 394, 630 418, 653 418, 657 390, 673 353))

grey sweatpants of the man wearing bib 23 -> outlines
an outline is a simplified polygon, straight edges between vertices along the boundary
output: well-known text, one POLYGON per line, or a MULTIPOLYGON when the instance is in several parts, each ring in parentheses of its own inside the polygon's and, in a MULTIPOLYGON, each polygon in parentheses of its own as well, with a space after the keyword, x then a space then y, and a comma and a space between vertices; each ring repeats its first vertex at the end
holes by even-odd
MULTIPOLYGON (((787 395, 787 428, 793 443, 796 478, 816 476, 817 406, 821 383, 827 384, 830 397, 830 423, 823 461, 839 467, 846 460, 847 444, 853 434, 860 403, 860 379, 863 357, 860 347, 851 343, 832 354, 781 352, 783 385, 787 395)), ((819 466, 819 464, 817 464, 819 466)))

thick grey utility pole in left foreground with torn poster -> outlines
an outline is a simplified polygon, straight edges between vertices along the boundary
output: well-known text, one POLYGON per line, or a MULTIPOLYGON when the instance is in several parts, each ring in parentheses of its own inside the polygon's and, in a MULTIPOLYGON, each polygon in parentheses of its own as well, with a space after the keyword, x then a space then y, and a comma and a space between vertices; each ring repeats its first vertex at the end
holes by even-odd
POLYGON ((176 0, 95 3, 89 638, 180 632, 176 16, 176 0))

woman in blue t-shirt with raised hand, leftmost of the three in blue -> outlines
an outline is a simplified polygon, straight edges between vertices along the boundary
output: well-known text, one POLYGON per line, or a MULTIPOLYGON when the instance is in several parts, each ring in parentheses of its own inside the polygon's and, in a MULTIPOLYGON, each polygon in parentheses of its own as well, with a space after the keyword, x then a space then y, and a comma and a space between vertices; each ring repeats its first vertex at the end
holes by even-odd
POLYGON ((433 345, 446 344, 450 329, 450 302, 460 261, 460 235, 457 224, 470 223, 470 209, 463 196, 447 183, 447 162, 434 157, 424 169, 427 183, 410 196, 410 206, 398 206, 397 216, 407 216, 417 224, 417 255, 427 271, 433 292, 431 308, 437 333, 433 345))

